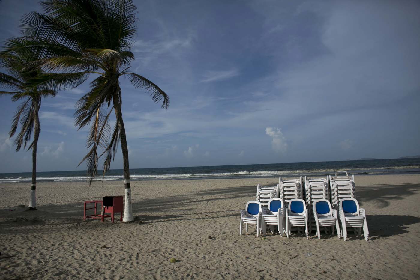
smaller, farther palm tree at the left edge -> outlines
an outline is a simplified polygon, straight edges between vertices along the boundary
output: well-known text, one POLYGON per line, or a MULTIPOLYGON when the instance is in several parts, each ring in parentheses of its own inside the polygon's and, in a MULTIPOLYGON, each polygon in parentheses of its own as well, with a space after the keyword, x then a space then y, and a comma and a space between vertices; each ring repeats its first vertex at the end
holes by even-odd
POLYGON ((87 75, 83 72, 73 73, 73 75, 45 73, 39 63, 23 60, 11 53, 3 53, 0 59, 2 66, 11 74, 0 73, 0 86, 12 90, 10 92, 2 91, 0 94, 12 95, 13 101, 23 100, 13 116, 11 130, 9 131, 9 138, 11 138, 15 135, 19 123, 21 124, 21 131, 14 141, 16 152, 22 146, 26 148, 32 138, 32 133, 34 134, 34 139, 28 146, 28 150, 32 149, 32 182, 29 209, 36 209, 37 144, 41 129, 39 123, 41 100, 45 97, 54 97, 57 90, 65 88, 66 85, 76 87, 87 78, 87 75))

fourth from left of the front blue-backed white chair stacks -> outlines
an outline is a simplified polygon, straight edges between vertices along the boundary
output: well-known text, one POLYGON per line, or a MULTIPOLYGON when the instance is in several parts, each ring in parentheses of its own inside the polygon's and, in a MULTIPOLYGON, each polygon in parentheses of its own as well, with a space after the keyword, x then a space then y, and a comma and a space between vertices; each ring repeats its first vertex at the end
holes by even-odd
MULTIPOLYGON (((315 200, 313 211, 318 239, 321 239, 320 227, 331 227, 331 233, 334 234, 334 226, 336 227, 337 235, 340 238, 341 233, 337 210, 331 208, 330 201, 327 199, 315 200)), ((326 230, 325 233, 327 233, 326 230)))

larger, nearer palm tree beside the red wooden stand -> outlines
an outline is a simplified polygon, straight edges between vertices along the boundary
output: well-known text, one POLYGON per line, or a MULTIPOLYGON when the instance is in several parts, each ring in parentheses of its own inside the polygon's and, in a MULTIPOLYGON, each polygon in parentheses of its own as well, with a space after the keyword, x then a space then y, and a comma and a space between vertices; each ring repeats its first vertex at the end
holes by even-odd
POLYGON ((90 89, 76 104, 75 123, 80 128, 91 124, 87 139, 89 184, 97 176, 98 159, 104 155, 104 173, 121 142, 124 169, 124 222, 133 221, 129 153, 121 112, 120 78, 125 76, 137 89, 149 92, 154 102, 169 105, 169 97, 152 81, 130 72, 134 60, 130 52, 136 35, 136 7, 131 0, 46 0, 45 14, 27 14, 21 24, 24 37, 16 38, 8 51, 15 55, 35 53, 49 71, 85 71, 98 75, 90 89), (115 112, 111 131, 109 118, 115 112), (110 141, 108 141, 108 133, 110 141), (102 148, 102 154, 97 149, 102 148))

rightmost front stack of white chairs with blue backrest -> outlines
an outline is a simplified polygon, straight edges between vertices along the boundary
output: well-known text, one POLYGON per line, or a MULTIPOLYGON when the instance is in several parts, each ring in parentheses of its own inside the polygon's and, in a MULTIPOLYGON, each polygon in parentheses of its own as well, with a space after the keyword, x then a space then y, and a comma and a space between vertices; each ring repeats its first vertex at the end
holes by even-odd
POLYGON ((359 208, 359 203, 354 198, 340 199, 339 203, 339 219, 344 241, 347 238, 347 228, 354 228, 359 236, 363 228, 363 235, 367 241, 367 238, 369 238, 369 229, 367 228, 366 210, 359 208))

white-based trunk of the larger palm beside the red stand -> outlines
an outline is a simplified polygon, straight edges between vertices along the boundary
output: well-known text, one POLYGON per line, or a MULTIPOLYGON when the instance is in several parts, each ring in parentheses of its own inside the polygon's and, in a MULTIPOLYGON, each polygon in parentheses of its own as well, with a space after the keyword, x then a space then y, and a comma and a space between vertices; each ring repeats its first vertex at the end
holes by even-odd
POLYGON ((113 94, 114 111, 120 129, 121 151, 123 152, 124 165, 124 217, 123 222, 134 221, 133 209, 131 207, 131 185, 130 185, 130 167, 129 167, 129 149, 127 146, 126 130, 124 128, 123 115, 121 113, 121 89, 118 86, 118 93, 113 94))

